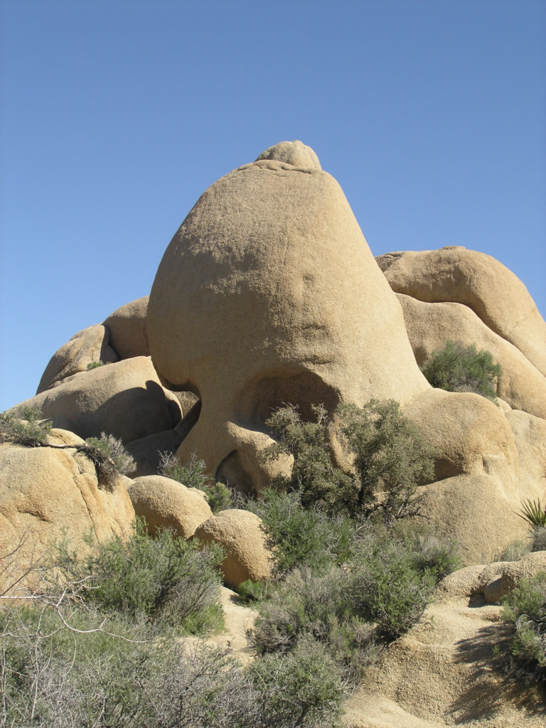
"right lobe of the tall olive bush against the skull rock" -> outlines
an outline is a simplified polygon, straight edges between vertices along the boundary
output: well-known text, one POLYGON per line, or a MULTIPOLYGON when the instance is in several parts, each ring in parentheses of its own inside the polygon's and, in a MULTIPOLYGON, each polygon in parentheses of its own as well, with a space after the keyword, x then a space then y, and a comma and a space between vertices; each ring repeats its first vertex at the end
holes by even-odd
POLYGON ((387 523, 419 515, 417 487, 433 474, 434 452, 400 412, 395 400, 370 400, 363 408, 340 405, 336 416, 355 455, 355 513, 379 513, 387 523))

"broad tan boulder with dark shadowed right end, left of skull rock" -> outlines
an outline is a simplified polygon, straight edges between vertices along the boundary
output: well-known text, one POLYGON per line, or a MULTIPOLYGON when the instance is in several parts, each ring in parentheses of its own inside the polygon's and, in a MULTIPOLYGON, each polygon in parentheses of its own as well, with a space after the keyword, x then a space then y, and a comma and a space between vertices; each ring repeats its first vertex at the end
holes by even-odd
POLYGON ((22 404, 38 406, 45 418, 68 418, 82 438, 106 432, 124 443, 170 430, 181 417, 178 400, 159 384, 149 357, 74 374, 22 404))

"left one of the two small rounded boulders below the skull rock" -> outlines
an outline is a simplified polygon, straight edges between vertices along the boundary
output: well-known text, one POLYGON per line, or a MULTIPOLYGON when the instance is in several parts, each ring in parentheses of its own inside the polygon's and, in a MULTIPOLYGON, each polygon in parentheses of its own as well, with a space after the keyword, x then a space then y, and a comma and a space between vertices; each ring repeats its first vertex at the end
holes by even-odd
POLYGON ((165 528, 189 539, 197 526, 213 515, 200 492, 162 475, 135 478, 128 492, 136 515, 146 518, 152 536, 165 528))

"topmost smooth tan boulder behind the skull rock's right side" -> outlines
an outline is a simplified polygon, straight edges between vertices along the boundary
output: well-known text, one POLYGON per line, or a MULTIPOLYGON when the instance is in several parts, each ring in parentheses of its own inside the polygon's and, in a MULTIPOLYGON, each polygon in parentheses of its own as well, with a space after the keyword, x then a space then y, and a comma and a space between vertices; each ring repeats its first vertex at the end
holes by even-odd
POLYGON ((392 290, 420 301, 469 306, 491 331, 514 344, 546 376, 546 323, 511 271, 462 247, 387 253, 376 258, 392 290))

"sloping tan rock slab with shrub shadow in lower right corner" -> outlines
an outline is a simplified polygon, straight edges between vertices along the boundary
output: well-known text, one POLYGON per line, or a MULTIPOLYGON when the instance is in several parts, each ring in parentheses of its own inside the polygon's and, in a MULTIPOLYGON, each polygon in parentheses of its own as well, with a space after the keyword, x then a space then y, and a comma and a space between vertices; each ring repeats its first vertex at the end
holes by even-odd
POLYGON ((544 556, 529 557, 534 563, 529 558, 519 564, 472 566, 447 577, 438 600, 387 648, 368 671, 365 686, 349 699, 347 726, 542 727, 545 713, 539 689, 507 676, 503 669, 510 628, 499 621, 502 607, 486 604, 485 598, 471 601, 487 587, 487 579, 499 573, 511 574, 513 588, 521 576, 544 568, 544 556), (480 574, 486 582, 481 586, 480 574))

